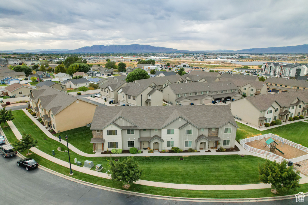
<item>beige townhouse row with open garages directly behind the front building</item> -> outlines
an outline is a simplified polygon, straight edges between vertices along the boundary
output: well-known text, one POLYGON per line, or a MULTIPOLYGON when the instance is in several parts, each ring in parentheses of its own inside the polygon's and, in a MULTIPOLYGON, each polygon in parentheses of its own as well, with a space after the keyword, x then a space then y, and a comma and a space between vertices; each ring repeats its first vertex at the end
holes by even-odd
POLYGON ((212 101, 231 101, 241 97, 237 86, 230 81, 170 84, 162 90, 164 100, 177 105, 207 104, 212 101))

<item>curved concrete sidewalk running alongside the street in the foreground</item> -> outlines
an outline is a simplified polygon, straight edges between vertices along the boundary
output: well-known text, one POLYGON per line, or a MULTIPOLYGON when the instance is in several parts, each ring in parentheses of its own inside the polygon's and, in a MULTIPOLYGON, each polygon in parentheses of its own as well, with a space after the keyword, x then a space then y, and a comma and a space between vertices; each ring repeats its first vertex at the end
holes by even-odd
MULTIPOLYGON (((16 136, 18 140, 22 138, 22 135, 14 125, 12 121, 8 121, 8 124, 16 136)), ((51 161, 56 164, 59 164, 61 166, 64 166, 66 168, 69 168, 69 163, 63 160, 60 160, 58 158, 55 158, 51 155, 46 154, 45 152, 40 151, 38 148, 31 148, 30 149, 35 154, 51 161)), ((111 179, 111 177, 106 174, 99 171, 89 170, 87 168, 79 167, 75 164, 71 164, 72 170, 79 171, 85 174, 111 179)), ((235 184, 235 185, 199 185, 199 184, 176 184, 176 183, 165 183, 165 182, 154 182, 154 181, 148 181, 148 180, 138 180, 135 182, 136 184, 145 185, 145 186, 152 186, 152 187, 162 187, 162 188, 173 188, 173 189, 188 189, 188 190, 248 190, 248 189, 264 189, 264 188, 270 188, 270 184, 235 184)), ((308 183, 308 177, 302 178, 299 181, 299 184, 308 183)))

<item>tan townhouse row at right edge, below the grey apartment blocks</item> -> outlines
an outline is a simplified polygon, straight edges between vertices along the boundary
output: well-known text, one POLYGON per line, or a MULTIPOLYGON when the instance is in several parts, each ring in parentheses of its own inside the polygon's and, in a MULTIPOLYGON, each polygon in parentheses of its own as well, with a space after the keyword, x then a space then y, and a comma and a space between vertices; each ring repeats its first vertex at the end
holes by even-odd
POLYGON ((268 90, 274 93, 288 92, 295 89, 308 89, 308 81, 270 77, 265 80, 268 90))

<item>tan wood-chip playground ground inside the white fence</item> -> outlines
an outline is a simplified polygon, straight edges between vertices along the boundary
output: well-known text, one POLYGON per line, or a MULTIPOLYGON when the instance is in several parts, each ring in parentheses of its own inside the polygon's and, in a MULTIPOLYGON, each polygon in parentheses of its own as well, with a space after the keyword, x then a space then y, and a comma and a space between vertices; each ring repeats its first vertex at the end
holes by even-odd
MULTIPOLYGON (((267 138, 266 140, 268 140, 269 138, 267 138)), ((255 140, 252 142, 247 142, 246 144, 250 147, 254 147, 254 148, 258 148, 258 149, 263 149, 265 147, 265 141, 261 140, 261 142, 258 144, 260 140, 255 140), (257 145, 258 144, 258 145, 257 145)), ((278 150, 276 150, 276 152, 274 152, 274 154, 282 156, 283 158, 286 159, 292 159, 295 157, 299 157, 299 156, 303 156, 306 155, 307 152, 304 152, 298 148, 292 147, 288 144, 285 144, 284 146, 282 145, 282 143, 278 140, 275 140, 275 142, 277 142, 278 145, 276 145, 276 148, 279 149, 280 151, 282 151, 284 154, 280 153, 278 150)), ((266 150, 263 149, 265 151, 270 151, 270 149, 266 150)))

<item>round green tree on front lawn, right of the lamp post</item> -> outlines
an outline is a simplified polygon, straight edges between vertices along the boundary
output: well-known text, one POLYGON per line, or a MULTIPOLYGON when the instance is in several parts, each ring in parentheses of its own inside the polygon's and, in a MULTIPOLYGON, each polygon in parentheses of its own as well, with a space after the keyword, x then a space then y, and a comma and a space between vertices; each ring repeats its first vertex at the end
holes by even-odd
POLYGON ((122 182, 124 188, 129 188, 129 183, 134 183, 142 175, 142 169, 139 167, 138 160, 133 156, 127 157, 122 162, 108 160, 108 168, 111 171, 111 180, 122 182))

